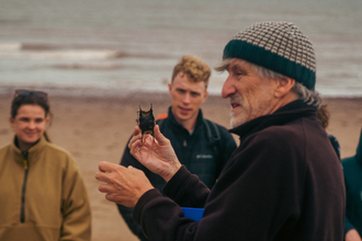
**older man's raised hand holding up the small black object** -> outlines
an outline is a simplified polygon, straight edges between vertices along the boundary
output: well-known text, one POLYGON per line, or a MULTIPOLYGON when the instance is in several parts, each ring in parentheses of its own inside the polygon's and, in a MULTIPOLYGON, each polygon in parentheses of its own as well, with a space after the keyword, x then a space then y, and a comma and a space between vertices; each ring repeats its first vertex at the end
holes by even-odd
POLYGON ((150 135, 142 138, 140 129, 136 126, 134 136, 128 144, 129 151, 149 171, 168 182, 179 171, 181 163, 170 140, 160 133, 158 125, 154 128, 154 135, 155 139, 150 135))

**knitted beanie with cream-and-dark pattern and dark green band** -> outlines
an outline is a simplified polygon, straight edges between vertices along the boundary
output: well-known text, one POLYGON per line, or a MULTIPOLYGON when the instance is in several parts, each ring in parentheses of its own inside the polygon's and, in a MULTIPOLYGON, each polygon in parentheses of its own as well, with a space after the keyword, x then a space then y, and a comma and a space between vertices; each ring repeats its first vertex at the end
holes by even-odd
POLYGON ((226 58, 240 58, 282 73, 309 90, 316 83, 312 43, 292 23, 264 22, 248 27, 225 46, 226 58))

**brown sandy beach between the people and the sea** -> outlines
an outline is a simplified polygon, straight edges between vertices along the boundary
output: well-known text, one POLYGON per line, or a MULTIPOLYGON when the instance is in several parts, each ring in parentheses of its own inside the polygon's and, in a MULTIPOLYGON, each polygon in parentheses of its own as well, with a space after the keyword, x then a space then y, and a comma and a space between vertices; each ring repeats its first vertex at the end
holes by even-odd
MULTIPOLYGON (((0 146, 12 140, 9 125, 12 95, 0 96, 0 146)), ((98 191, 94 174, 100 161, 118 163, 126 141, 136 124, 138 105, 144 110, 152 103, 155 115, 167 112, 166 94, 137 93, 120 97, 50 96, 53 112, 48 134, 53 142, 67 149, 83 175, 92 208, 92 240, 137 240, 115 207, 98 191)), ((325 99, 331 118, 327 131, 340 142, 341 157, 355 153, 362 127, 362 97, 325 99)), ((229 128, 229 106, 218 96, 203 104, 204 116, 229 128)))

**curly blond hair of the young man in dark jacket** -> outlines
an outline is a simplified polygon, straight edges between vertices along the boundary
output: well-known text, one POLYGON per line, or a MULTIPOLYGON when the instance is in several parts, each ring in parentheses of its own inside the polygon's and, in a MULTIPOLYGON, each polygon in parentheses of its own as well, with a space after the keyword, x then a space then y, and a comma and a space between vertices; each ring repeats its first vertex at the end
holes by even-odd
POLYGON ((208 79, 211 76, 211 68, 197 56, 182 56, 180 61, 173 67, 171 82, 173 82, 174 77, 180 72, 186 74, 189 79, 193 82, 204 81, 205 87, 207 89, 208 79))

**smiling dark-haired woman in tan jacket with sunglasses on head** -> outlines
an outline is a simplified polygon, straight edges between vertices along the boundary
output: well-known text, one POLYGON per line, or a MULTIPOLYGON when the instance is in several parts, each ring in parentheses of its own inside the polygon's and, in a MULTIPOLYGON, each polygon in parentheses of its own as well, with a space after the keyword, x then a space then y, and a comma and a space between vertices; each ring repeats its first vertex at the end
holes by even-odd
POLYGON ((90 240, 91 211, 72 157, 49 141, 47 93, 16 90, 13 140, 0 148, 0 240, 90 240))

